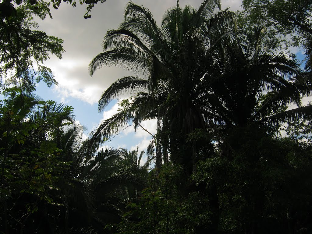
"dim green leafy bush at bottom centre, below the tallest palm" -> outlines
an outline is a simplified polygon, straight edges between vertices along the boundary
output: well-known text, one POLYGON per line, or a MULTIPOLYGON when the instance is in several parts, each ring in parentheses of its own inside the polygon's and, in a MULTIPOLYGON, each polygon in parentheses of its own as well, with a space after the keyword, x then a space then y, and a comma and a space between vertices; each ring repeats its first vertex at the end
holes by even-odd
POLYGON ((196 217, 179 193, 179 188, 184 187, 181 178, 182 168, 171 163, 163 165, 158 177, 150 173, 149 188, 142 191, 136 202, 128 204, 118 233, 193 233, 196 217))

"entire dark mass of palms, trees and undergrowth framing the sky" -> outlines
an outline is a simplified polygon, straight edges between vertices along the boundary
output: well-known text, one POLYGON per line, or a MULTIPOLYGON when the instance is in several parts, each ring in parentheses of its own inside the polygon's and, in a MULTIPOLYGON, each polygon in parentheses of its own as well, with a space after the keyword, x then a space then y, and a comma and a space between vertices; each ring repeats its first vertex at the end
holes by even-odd
POLYGON ((205 0, 198 9, 177 2, 159 27, 148 9, 130 2, 89 70, 114 65, 136 73, 104 91, 100 111, 119 95, 133 96, 86 139, 71 106, 31 92, 36 81, 54 80, 48 68, 29 71, 30 57, 40 63, 62 52, 60 39, 42 34, 36 41, 41 32, 27 28, 49 5, 26 1, 12 15, 1 8, 0 29, 24 26, 1 34, 13 42, 2 45, 1 71, 20 72, 7 84, 22 82, 2 86, 0 232, 310 233, 312 105, 301 99, 312 93, 312 47, 300 31, 310 25, 310 2, 269 2, 288 6, 287 20, 268 1, 243 1, 237 15, 205 0), (291 42, 305 47, 304 68, 276 53, 285 38, 274 30, 305 39, 291 42), (158 127, 145 163, 144 151, 103 147, 129 122, 143 128, 147 119, 158 127))

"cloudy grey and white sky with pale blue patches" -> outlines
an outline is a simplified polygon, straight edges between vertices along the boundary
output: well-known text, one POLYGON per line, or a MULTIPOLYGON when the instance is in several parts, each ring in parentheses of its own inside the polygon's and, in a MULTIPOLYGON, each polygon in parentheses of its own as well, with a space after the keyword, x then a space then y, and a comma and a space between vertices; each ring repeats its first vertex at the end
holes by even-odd
MULTIPOLYGON (((44 64, 53 71, 59 86, 48 88, 45 83, 37 85, 36 93, 44 100, 54 100, 66 103, 74 107, 76 119, 87 127, 86 135, 94 130, 101 121, 117 113, 117 100, 112 101, 106 109, 99 113, 97 102, 101 94, 117 79, 130 75, 116 67, 103 67, 91 77, 88 73, 88 65, 92 58, 102 52, 101 44, 106 32, 117 29, 124 17, 124 8, 129 0, 107 0, 99 3, 91 11, 92 17, 84 19, 85 5, 73 8, 69 4, 62 3, 58 10, 51 9, 53 19, 37 20, 39 30, 48 35, 64 40, 63 46, 66 52, 60 60, 51 56, 44 64)), ((163 13, 176 5, 176 0, 133 0, 137 5, 149 8, 156 23, 160 25, 163 13)), ((180 0, 181 7, 190 4, 198 8, 201 0, 180 0)), ((232 11, 240 9, 241 0, 222 0, 222 9, 230 7, 232 11)), ((152 134, 156 133, 156 120, 148 120, 142 126, 152 134)), ((107 141, 105 145, 112 148, 136 149, 139 152, 146 150, 151 136, 142 129, 134 132, 133 127, 128 127, 114 139, 107 141)), ((144 159, 142 160, 144 162, 144 159)))

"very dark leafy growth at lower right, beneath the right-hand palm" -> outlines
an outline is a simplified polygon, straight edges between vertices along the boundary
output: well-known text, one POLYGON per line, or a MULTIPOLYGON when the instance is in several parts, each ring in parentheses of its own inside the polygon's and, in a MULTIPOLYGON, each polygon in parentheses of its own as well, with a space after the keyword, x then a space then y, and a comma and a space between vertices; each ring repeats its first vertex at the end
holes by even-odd
POLYGON ((216 154, 200 162, 193 174, 197 186, 216 187, 215 222, 221 233, 308 233, 311 228, 306 222, 311 214, 311 145, 273 139, 261 133, 265 130, 232 130, 237 143, 232 157, 216 154))

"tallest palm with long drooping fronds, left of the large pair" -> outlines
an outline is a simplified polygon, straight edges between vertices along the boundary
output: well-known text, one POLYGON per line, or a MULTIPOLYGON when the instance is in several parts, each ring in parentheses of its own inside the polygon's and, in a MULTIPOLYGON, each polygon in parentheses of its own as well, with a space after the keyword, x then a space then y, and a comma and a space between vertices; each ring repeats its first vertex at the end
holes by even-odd
MULTIPOLYGON (((129 120, 138 125, 145 119, 158 119, 156 167, 159 168, 161 120, 166 123, 163 128, 176 125, 174 130, 182 132, 179 140, 184 142, 180 145, 186 143, 186 135, 194 129, 205 129, 197 103, 204 90, 201 78, 206 71, 202 62, 206 62, 209 50, 231 38, 235 29, 232 12, 215 13, 216 8, 220 9, 218 0, 206 0, 198 10, 190 6, 181 9, 177 2, 175 8, 165 12, 160 28, 148 9, 132 2, 127 5, 124 22, 118 30, 106 34, 104 52, 91 61, 89 71, 92 75, 103 65, 114 65, 141 76, 127 76, 113 83, 100 98, 99 111, 118 95, 137 94, 128 110, 107 119, 96 134, 108 137, 116 126, 124 127, 129 120)), ((173 150, 171 156, 172 153, 173 150)), ((189 163, 189 158, 184 161, 189 163)))

